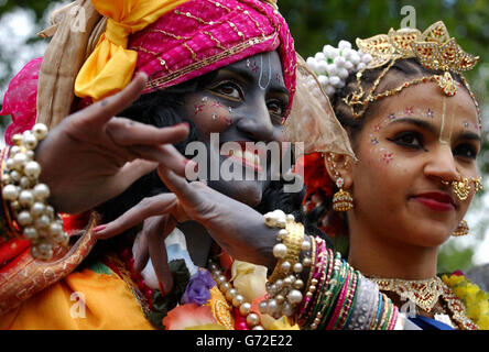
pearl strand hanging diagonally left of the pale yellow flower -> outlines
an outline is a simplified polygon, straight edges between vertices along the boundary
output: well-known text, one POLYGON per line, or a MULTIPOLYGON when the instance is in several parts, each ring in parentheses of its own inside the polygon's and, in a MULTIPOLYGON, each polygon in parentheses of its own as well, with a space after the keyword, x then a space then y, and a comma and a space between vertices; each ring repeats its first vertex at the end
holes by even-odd
POLYGON ((239 309, 241 316, 246 317, 248 328, 252 330, 264 330, 260 324, 260 317, 251 311, 251 304, 246 301, 244 296, 240 295, 237 289, 233 288, 230 283, 228 283, 219 266, 209 260, 208 267, 213 274, 217 287, 219 287, 219 290, 222 293, 226 299, 232 305, 232 307, 239 309))

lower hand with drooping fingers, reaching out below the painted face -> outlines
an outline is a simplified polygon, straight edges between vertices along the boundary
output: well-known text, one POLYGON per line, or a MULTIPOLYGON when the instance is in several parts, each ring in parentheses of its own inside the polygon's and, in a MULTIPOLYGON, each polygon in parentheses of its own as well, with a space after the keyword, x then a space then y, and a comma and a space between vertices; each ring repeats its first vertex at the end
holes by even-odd
MULTIPOLYGON (((194 220, 200 222, 214 240, 237 260, 265 265, 272 268, 275 258, 272 255, 276 242, 276 231, 269 229, 263 217, 249 206, 231 199, 200 182, 187 183, 186 179, 172 170, 159 167, 159 175, 174 194, 161 194, 143 199, 139 205, 128 210, 120 218, 95 229, 98 239, 108 239, 127 229, 146 221, 152 222, 152 230, 144 223, 140 243, 145 243, 148 250, 139 249, 137 263, 145 264, 148 254, 159 253, 155 264, 156 275, 165 289, 170 280, 163 253, 163 241, 173 230, 174 221, 194 220), (173 220, 172 220, 173 218, 173 220), (157 230, 156 230, 157 229, 157 230), (150 234, 151 233, 151 234, 150 234), (150 237, 160 237, 153 241, 157 249, 151 250, 150 237)), ((144 244, 143 244, 144 245, 144 244)), ((142 268, 137 265, 137 268, 142 268)))

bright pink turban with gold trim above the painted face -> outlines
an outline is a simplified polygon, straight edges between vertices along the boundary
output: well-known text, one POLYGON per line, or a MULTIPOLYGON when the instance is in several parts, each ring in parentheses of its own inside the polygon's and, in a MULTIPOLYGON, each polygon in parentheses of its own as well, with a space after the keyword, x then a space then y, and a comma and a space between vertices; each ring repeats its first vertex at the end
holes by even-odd
POLYGON ((193 0, 131 35, 135 70, 151 80, 144 92, 202 76, 246 57, 278 50, 285 87, 295 92, 296 54, 289 26, 259 0, 193 0))

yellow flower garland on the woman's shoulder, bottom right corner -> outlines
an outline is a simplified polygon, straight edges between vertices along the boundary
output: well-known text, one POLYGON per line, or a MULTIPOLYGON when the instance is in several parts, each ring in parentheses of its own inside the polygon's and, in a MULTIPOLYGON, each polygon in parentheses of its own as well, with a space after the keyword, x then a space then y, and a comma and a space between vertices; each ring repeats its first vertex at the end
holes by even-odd
POLYGON ((472 284, 461 272, 443 275, 442 279, 461 300, 467 317, 480 329, 489 330, 489 293, 472 284))

